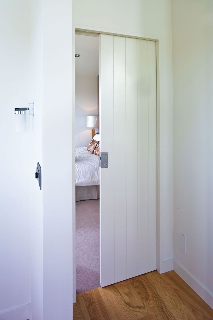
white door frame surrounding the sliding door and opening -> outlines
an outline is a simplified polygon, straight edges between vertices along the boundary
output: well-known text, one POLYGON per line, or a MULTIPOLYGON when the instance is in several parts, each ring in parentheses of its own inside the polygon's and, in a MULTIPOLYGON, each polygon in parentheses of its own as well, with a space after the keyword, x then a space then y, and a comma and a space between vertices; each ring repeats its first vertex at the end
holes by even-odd
POLYGON ((85 25, 72 27, 72 220, 73 220, 73 303, 76 301, 76 269, 75 269, 75 31, 110 34, 113 36, 126 36, 138 39, 156 41, 156 74, 157 74, 157 271, 164 273, 172 270, 172 259, 163 260, 163 180, 164 180, 164 141, 163 141, 163 86, 162 86, 162 37, 135 34, 133 32, 123 34, 120 30, 96 28, 85 25))

